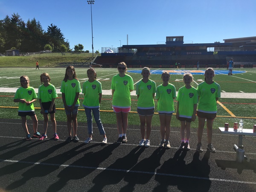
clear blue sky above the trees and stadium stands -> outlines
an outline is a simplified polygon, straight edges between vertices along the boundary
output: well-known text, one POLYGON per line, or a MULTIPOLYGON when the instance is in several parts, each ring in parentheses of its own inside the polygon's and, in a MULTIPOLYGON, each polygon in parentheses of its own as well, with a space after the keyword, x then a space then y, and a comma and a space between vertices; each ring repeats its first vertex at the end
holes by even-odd
MULTIPOLYGON (((256 36, 255 0, 95 0, 93 47, 157 44, 166 36, 184 36, 185 43, 224 42, 256 36)), ((0 0, 0 20, 18 13, 25 21, 51 23, 61 29, 70 48, 83 44, 92 51, 91 13, 87 0, 0 0)))

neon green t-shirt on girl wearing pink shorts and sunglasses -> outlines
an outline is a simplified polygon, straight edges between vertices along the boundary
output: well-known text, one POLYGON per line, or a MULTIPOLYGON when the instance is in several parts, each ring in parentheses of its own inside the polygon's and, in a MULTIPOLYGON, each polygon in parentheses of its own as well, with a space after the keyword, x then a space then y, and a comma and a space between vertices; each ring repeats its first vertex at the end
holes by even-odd
POLYGON ((113 94, 112 106, 116 108, 131 107, 130 90, 134 90, 134 82, 131 76, 125 74, 120 77, 119 74, 113 76, 111 89, 115 90, 113 94))

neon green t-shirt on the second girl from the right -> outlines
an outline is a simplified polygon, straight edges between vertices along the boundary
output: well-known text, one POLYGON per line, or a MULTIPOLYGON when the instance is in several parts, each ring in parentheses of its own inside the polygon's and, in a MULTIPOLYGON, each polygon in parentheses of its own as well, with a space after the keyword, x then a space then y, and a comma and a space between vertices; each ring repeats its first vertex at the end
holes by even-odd
POLYGON ((185 86, 180 87, 177 99, 179 102, 180 117, 192 118, 194 113, 194 104, 198 103, 198 93, 195 87, 187 89, 185 86))

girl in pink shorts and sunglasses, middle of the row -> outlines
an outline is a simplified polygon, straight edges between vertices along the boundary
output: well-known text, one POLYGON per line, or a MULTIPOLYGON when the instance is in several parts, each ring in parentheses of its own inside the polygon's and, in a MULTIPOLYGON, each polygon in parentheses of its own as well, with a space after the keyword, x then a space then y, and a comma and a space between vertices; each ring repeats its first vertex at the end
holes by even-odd
POLYGON ((127 65, 121 62, 117 66, 119 74, 113 76, 111 81, 112 107, 116 113, 117 131, 119 134, 116 143, 127 142, 126 131, 128 127, 128 113, 131 111, 131 91, 134 90, 134 81, 125 74, 127 65))

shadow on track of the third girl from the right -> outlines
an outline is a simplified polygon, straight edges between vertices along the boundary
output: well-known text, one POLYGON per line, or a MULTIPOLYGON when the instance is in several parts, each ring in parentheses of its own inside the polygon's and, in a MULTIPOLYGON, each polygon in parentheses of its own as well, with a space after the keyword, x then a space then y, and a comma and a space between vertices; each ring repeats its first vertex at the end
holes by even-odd
POLYGON ((124 180, 128 185, 120 192, 134 191, 136 184, 145 185, 154 176, 155 170, 161 165, 160 160, 166 148, 157 148, 150 157, 141 160, 125 175, 124 180))

